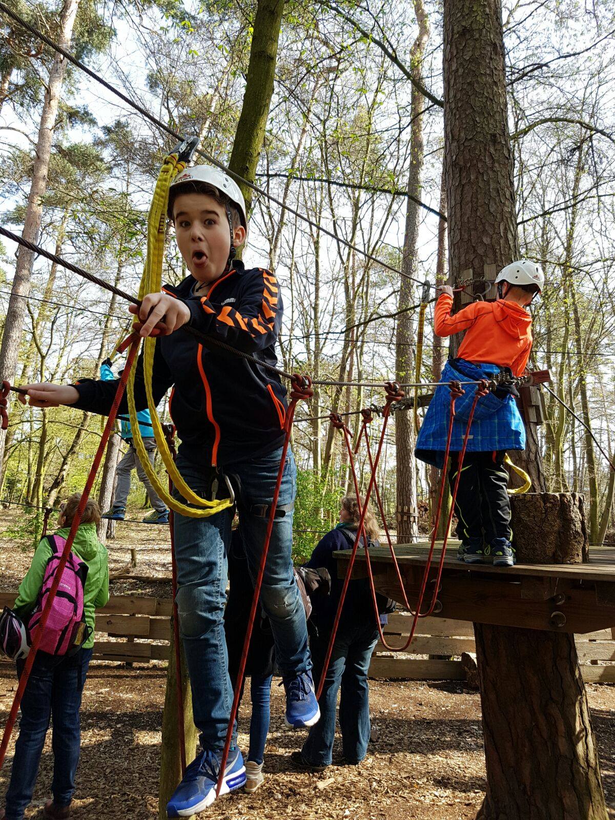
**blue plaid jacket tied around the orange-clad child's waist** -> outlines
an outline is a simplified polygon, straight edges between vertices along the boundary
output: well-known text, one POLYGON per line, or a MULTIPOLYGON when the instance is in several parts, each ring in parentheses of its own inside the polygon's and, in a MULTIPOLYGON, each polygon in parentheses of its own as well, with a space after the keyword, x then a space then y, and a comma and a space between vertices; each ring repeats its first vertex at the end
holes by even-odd
MULTIPOLYGON (((446 362, 442 371, 441 381, 475 381, 490 379, 499 372, 494 364, 472 364, 461 360, 463 372, 455 370, 450 362, 446 362)), ((453 435, 450 449, 459 451, 463 447, 463 437, 466 435, 467 419, 471 404, 476 394, 475 385, 464 385, 465 394, 455 403, 455 421, 453 421, 453 435)), ((444 467, 444 450, 449 430, 450 417, 450 390, 448 386, 435 389, 434 398, 427 408, 425 419, 417 437, 415 454, 421 461, 433 464, 434 467, 444 467)), ((478 400, 474 420, 467 440, 467 452, 489 453, 493 450, 524 450, 526 449, 526 430, 523 426, 521 414, 513 396, 498 399, 490 393, 478 400)))

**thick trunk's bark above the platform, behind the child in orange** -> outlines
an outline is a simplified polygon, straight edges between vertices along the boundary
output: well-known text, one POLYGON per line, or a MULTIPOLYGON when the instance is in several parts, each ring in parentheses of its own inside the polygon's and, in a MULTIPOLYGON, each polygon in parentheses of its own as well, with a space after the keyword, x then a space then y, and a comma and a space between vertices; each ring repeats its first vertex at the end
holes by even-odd
MULTIPOLYGON (((519 256, 500 0, 444 2, 444 171, 449 279, 480 278, 485 265, 493 279, 519 256)), ((526 430, 526 451, 512 458, 544 492, 536 429, 526 430)))

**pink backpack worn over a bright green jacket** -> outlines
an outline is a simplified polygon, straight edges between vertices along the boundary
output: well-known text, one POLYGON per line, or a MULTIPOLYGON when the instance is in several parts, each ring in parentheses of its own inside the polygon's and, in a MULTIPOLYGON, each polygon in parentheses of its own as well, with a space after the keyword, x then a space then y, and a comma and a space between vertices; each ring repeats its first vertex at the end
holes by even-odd
MULTIPOLYGON (((36 608, 28 623, 30 635, 39 626, 40 617, 47 603, 49 590, 51 590, 66 544, 66 539, 59 535, 47 535, 46 537, 52 548, 52 556, 45 569, 36 608)), ((88 626, 84 621, 84 587, 87 576, 88 565, 71 551, 39 645, 39 649, 43 652, 48 652, 50 655, 73 654, 84 644, 89 635, 88 626)))

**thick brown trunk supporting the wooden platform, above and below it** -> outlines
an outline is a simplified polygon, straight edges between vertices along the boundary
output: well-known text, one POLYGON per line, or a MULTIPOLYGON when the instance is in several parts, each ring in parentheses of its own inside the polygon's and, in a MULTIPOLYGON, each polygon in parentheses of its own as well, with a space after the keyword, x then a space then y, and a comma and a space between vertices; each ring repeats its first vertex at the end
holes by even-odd
MULTIPOLYGON (((497 270, 518 254, 500 0, 444 0, 444 157, 451 279, 497 270)), ((540 491, 537 444, 528 426, 523 467, 540 491)), ((573 635, 474 631, 487 770, 478 818, 606 820, 573 635)))

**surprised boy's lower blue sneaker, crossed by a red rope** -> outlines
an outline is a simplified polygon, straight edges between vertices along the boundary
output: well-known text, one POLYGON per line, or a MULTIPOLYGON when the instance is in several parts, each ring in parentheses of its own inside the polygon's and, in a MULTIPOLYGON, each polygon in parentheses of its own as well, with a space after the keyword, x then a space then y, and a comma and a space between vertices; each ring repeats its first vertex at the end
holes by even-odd
MULTIPOLYGON (((220 760, 213 752, 200 752, 186 768, 180 785, 166 804, 167 818, 189 818, 211 806, 216 799, 220 760)), ((229 752, 221 795, 240 789, 246 781, 244 758, 235 746, 229 752)))

